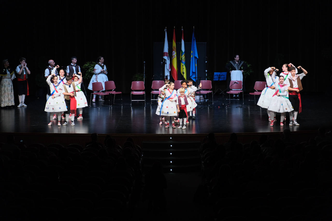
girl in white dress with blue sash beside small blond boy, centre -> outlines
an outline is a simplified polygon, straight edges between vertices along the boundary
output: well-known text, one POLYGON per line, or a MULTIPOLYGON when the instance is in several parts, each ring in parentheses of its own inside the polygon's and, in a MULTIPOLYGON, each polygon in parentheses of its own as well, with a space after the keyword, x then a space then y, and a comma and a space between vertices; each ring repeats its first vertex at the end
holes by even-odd
MULTIPOLYGON (((169 82, 169 84, 165 84, 164 86, 159 88, 159 91, 164 91, 166 98, 161 103, 160 113, 159 115, 170 116, 172 121, 172 128, 176 128, 174 124, 174 117, 177 116, 177 108, 176 108, 176 99, 177 94, 174 90, 174 83, 169 82)), ((165 118, 165 120, 166 120, 165 118)), ((165 123, 165 128, 169 128, 169 120, 165 123)))

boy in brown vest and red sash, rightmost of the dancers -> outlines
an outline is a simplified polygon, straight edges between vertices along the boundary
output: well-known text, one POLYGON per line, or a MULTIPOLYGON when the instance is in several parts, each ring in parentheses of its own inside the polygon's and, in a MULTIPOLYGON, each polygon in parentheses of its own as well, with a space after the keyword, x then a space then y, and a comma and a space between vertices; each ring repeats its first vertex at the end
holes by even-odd
POLYGON ((291 67, 290 73, 291 76, 288 77, 288 90, 289 93, 289 99, 291 104, 293 105, 294 111, 290 112, 290 124, 289 126, 299 126, 299 123, 297 123, 297 113, 301 113, 302 111, 302 105, 301 105, 301 96, 300 96, 300 90, 303 89, 301 80, 304 76, 308 74, 308 72, 303 69, 301 66, 297 67, 298 69, 301 69, 303 71, 302 74, 297 75, 296 74, 296 68, 291 67))

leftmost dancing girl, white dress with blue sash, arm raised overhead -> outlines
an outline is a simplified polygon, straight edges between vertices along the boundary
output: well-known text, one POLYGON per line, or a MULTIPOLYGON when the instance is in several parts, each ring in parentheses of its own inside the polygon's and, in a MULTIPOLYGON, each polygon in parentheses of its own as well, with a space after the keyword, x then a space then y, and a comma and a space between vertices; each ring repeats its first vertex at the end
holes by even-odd
POLYGON ((46 100, 45 111, 49 112, 49 120, 48 126, 53 124, 53 116, 52 113, 54 112, 58 118, 58 126, 61 126, 60 123, 60 114, 61 111, 67 111, 66 103, 64 101, 62 91, 63 91, 63 84, 58 83, 58 76, 55 73, 49 75, 46 79, 46 83, 49 85, 51 95, 46 100), (51 78, 53 83, 51 83, 51 78))

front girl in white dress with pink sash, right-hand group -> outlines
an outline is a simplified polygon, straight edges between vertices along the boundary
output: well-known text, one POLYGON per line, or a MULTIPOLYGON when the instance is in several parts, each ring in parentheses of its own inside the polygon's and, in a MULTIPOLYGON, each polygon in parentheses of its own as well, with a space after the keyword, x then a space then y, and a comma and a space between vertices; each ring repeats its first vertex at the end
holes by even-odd
MULTIPOLYGON (((276 81, 276 73, 272 74, 272 81, 276 87, 276 92, 272 96, 272 100, 269 104, 268 110, 271 111, 271 118, 274 116, 275 112, 281 113, 280 126, 284 126, 285 112, 290 112, 293 110, 292 104, 288 99, 288 84, 284 82, 284 76, 279 77, 279 83, 276 81)), ((270 126, 273 126, 274 121, 271 121, 270 126)))

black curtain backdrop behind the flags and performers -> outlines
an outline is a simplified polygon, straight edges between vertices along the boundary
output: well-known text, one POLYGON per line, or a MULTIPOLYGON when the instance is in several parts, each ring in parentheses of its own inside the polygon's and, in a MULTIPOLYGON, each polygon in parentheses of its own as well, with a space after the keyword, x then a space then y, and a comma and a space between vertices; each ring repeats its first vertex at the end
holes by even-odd
MULTIPOLYGON (((117 90, 130 92, 131 77, 143 72, 143 61, 145 87, 150 88, 153 42, 164 41, 165 27, 171 41, 174 26, 177 42, 181 27, 185 42, 191 42, 195 26, 196 41, 207 42, 211 77, 225 71, 227 61, 239 54, 254 70, 245 82, 248 92, 255 81, 265 81, 266 68, 281 69, 289 62, 309 72, 303 80, 305 91, 330 91, 320 85, 331 83, 331 3, 327 1, 5 0, 1 8, 1 57, 8 58, 12 67, 20 57, 27 58, 32 83, 42 76, 40 69, 49 59, 67 66, 76 56, 83 66, 101 55, 117 90)), ((169 49, 171 53, 171 45, 169 49)), ((188 64, 190 51, 186 60, 188 64)), ((33 89, 33 84, 29 86, 33 89)))

